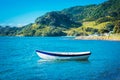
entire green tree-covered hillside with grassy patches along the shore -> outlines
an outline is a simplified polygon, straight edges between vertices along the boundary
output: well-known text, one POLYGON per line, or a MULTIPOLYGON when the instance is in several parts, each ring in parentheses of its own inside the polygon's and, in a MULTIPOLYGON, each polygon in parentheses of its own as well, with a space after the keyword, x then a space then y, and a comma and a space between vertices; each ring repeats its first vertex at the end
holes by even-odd
POLYGON ((120 33, 120 1, 75 6, 36 18, 22 28, 0 27, 1 36, 79 36, 120 33))

